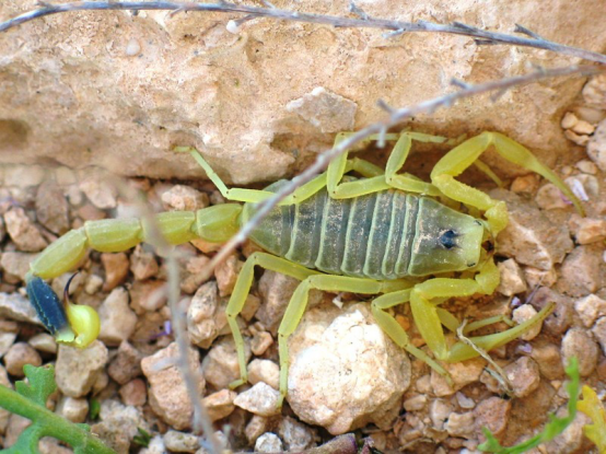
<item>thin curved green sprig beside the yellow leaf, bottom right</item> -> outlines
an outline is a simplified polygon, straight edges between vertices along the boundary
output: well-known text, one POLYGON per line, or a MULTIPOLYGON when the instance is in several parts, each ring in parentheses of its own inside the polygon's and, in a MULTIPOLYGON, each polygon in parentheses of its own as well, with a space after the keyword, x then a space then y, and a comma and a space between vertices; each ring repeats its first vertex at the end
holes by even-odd
POLYGON ((533 447, 538 446, 541 443, 553 440, 557 435, 562 433, 576 416, 576 400, 579 399, 579 387, 581 382, 576 358, 571 358, 570 363, 566 368, 566 373, 570 379, 567 385, 567 391, 569 395, 567 417, 556 418, 553 415, 549 415, 549 422, 545 424, 545 429, 543 430, 543 432, 529 440, 526 440, 523 443, 509 447, 501 446, 501 443, 499 443, 499 440, 497 440, 494 435, 492 435, 490 430, 488 430, 487 428, 482 428, 483 434, 486 436, 486 442, 480 444, 478 446, 478 450, 486 453, 522 454, 528 450, 532 450, 533 447))

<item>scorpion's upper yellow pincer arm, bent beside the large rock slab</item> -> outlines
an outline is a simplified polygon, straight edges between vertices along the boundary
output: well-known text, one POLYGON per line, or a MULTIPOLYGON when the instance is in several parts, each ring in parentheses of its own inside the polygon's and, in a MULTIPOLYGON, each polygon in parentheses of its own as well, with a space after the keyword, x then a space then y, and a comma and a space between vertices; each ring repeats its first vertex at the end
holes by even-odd
POLYGON ((487 194, 455 179, 456 176, 475 163, 490 145, 494 145, 497 152, 508 161, 547 178, 583 214, 581 202, 569 187, 549 167, 541 164, 526 148, 499 132, 482 132, 446 153, 433 167, 431 182, 451 199, 485 211, 485 216, 494 235, 503 230, 508 223, 505 203, 493 200, 487 194))

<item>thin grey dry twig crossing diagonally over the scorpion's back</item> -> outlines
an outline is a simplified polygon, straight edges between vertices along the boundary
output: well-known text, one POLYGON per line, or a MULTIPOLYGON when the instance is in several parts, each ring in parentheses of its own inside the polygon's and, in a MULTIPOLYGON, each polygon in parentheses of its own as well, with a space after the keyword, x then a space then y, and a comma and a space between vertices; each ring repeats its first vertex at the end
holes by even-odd
POLYGON ((310 165, 301 174, 292 178, 288 184, 280 188, 273 196, 264 200, 258 205, 258 208, 255 214, 241 226, 236 235, 234 235, 228 243, 223 245, 221 251, 207 264, 203 268, 202 273, 210 276, 214 267, 223 261, 230 254, 232 254, 235 248, 244 243, 253 230, 259 225, 260 221, 269 214, 269 212, 287 196, 292 194, 298 187, 310 182, 316 175, 322 173, 338 155, 342 154, 346 150, 353 148, 359 142, 362 142, 364 139, 368 139, 370 136, 375 133, 381 133, 387 129, 396 126, 406 118, 413 117, 419 114, 432 114, 439 107, 451 106, 457 100, 474 96, 480 93, 487 93, 491 91, 503 91, 511 89, 516 85, 524 85, 531 82, 547 78, 564 77, 564 75, 590 75, 598 72, 604 72, 606 68, 601 67, 588 67, 588 66, 572 66, 566 68, 557 69, 543 69, 539 71, 534 71, 525 75, 516 75, 513 78, 500 79, 497 81, 490 81, 485 83, 478 83, 475 85, 467 84, 465 89, 445 94, 442 96, 434 97, 433 100, 424 101, 419 104, 416 104, 410 107, 403 107, 394 109, 393 107, 387 106, 385 103, 382 103, 381 106, 389 114, 387 118, 382 121, 377 121, 365 128, 359 130, 358 132, 348 136, 346 139, 340 141, 335 148, 326 150, 319 153, 312 165, 310 165))

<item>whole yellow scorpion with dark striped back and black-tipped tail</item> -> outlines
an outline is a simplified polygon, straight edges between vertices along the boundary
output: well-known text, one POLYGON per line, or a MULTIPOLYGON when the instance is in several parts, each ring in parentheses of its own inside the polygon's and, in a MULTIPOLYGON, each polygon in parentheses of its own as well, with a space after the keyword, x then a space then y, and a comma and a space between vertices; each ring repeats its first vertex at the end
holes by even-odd
MULTIPOLYGON (((335 145, 348 133, 337 135, 335 145)), ((474 346, 448 345, 444 328, 456 333, 459 321, 440 304, 452 298, 492 294, 500 281, 494 263, 494 241, 508 224, 503 201, 494 200, 456 177, 471 164, 499 182, 479 160, 493 148, 505 160, 535 172, 555 184, 576 210, 579 199, 566 184, 522 144, 499 132, 482 132, 444 154, 432 168, 431 183, 399 173, 412 141, 444 143, 446 139, 421 132, 377 135, 368 140, 395 141, 385 171, 348 152, 334 160, 325 173, 283 199, 250 234, 267 252, 255 252, 244 264, 226 307, 226 317, 237 351, 240 379, 247 382, 244 340, 236 317, 250 291, 254 268, 291 276, 301 281, 287 306, 278 329, 281 406, 287 396, 289 336, 296 329, 311 289, 377 295, 371 303, 376 323, 408 353, 450 379, 442 362, 459 362, 505 345, 545 319, 553 310, 539 313, 509 329, 473 336, 474 346), (346 174, 354 172, 359 177, 346 174), (465 211, 465 212, 464 212, 465 211), (391 309, 409 303, 419 334, 433 358, 413 346, 391 309)), ((258 203, 271 197, 287 181, 264 190, 228 188, 202 155, 188 152, 206 171, 229 201, 190 211, 170 211, 155 218, 156 228, 173 245, 202 238, 223 243, 255 213, 258 203)), ((89 346, 100 333, 96 312, 86 305, 62 304, 43 279, 72 270, 88 248, 121 252, 150 238, 150 225, 138 219, 88 221, 48 246, 32 264, 26 276, 30 299, 46 328, 58 342, 79 348, 89 346)), ((503 321, 490 317, 468 324, 469 333, 503 321)))

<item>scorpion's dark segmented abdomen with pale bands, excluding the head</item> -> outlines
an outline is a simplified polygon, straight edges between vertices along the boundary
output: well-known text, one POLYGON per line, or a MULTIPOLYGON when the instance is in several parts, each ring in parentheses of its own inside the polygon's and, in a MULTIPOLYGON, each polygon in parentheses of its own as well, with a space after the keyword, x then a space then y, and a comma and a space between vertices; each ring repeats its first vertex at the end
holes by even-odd
MULTIPOLYGON (((254 207, 247 203, 244 221, 254 207)), ((398 190, 338 200, 323 189, 273 209, 250 237, 272 254, 330 275, 399 279, 408 276, 418 207, 418 196, 398 190)))

